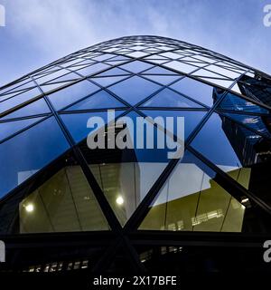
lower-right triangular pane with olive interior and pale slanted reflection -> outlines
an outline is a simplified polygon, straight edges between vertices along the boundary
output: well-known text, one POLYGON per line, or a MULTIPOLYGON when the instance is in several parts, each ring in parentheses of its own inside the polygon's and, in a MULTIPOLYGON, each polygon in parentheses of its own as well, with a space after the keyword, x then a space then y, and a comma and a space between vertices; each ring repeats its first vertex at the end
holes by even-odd
POLYGON ((158 192, 139 229, 241 232, 246 208, 189 151, 158 192))

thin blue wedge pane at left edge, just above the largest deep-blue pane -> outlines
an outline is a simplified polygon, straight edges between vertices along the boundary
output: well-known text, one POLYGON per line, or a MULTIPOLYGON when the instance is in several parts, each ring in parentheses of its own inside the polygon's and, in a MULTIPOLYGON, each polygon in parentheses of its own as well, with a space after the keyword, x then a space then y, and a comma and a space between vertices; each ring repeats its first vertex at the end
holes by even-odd
POLYGON ((33 124, 35 121, 39 121, 42 118, 25 119, 19 121, 5 121, 0 123, 0 140, 4 140, 6 137, 14 134, 17 131, 33 124))

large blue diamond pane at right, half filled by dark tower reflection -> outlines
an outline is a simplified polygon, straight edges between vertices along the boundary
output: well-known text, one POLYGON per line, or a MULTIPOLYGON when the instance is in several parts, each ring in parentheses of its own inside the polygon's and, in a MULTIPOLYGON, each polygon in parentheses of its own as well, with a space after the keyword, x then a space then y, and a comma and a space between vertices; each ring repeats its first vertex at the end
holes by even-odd
POLYGON ((213 113, 192 140, 192 147, 248 189, 253 183, 255 164, 270 160, 271 143, 235 121, 213 113))

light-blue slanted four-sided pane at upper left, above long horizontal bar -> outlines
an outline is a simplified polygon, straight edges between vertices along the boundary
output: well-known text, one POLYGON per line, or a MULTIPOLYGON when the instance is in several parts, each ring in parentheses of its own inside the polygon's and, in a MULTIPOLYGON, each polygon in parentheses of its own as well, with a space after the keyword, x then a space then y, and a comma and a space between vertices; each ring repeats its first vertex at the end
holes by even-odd
POLYGON ((70 85, 70 87, 64 88, 61 91, 54 92, 48 95, 48 98, 52 102, 53 106, 60 110, 61 108, 68 106, 70 103, 78 101, 92 92, 98 91, 99 88, 92 82, 83 81, 70 85))

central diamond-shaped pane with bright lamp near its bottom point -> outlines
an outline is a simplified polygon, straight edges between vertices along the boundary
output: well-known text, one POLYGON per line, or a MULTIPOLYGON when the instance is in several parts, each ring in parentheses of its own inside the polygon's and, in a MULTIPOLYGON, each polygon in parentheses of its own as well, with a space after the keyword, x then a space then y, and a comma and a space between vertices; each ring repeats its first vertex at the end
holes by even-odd
MULTIPOLYGON (((141 117, 135 112, 130 112, 115 124, 110 124, 104 131, 105 149, 89 150, 86 144, 80 145, 89 168, 122 226, 134 213, 169 161, 170 150, 159 146, 159 142, 166 139, 164 130, 154 126, 152 129, 145 128, 140 132, 144 134, 144 139, 150 136, 148 130, 154 132, 152 145, 148 143, 149 139, 140 143, 143 146, 137 143, 142 140, 137 131, 137 118, 141 117), (112 133, 115 146, 109 147, 112 133), (131 146, 127 148, 124 144, 126 142, 131 142, 131 146)), ((148 121, 146 123, 151 125, 148 121)))

